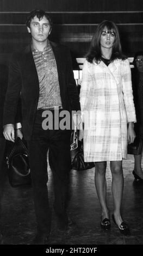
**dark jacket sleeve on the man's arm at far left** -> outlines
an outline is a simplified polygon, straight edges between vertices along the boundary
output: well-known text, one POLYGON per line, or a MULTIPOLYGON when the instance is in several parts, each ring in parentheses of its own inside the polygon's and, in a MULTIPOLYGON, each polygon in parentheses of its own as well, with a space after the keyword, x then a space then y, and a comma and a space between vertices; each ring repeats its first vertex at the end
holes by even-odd
MULTIPOLYGON (((21 92, 21 72, 18 65, 16 54, 13 54, 9 65, 9 81, 8 89, 4 102, 3 125, 15 124, 15 121, 20 121, 21 118, 17 117, 17 106, 20 100, 21 92), (17 120, 15 120, 17 119, 17 120)), ((19 109, 21 112, 21 109, 19 109)), ((20 116, 21 114, 18 114, 20 116)))

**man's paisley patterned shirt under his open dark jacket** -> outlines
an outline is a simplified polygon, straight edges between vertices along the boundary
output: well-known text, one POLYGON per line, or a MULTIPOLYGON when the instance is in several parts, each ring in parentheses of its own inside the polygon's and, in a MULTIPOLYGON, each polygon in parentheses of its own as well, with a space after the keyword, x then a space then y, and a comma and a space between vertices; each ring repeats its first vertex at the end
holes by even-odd
POLYGON ((32 47, 32 53, 39 78, 38 109, 61 108, 57 64, 51 45, 48 42, 43 52, 32 47))

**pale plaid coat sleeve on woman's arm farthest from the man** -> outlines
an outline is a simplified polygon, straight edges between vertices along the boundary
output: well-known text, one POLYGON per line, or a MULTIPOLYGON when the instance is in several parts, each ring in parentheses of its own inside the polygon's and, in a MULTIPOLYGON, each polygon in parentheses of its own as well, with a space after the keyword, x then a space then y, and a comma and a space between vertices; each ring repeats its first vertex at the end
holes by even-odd
POLYGON ((123 75, 122 75, 122 92, 123 92, 123 99, 125 102, 127 121, 136 122, 129 60, 126 59, 124 60, 123 63, 124 64, 123 64, 123 75))

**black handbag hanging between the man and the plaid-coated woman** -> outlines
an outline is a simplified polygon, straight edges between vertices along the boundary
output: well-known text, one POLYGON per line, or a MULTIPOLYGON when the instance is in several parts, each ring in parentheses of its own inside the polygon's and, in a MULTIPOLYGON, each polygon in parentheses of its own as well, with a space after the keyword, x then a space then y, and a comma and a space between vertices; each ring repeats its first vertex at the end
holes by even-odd
POLYGON ((78 141, 77 131, 72 134, 72 144, 71 144, 71 164, 74 170, 88 170, 95 167, 94 162, 84 162, 83 155, 83 139, 78 141))

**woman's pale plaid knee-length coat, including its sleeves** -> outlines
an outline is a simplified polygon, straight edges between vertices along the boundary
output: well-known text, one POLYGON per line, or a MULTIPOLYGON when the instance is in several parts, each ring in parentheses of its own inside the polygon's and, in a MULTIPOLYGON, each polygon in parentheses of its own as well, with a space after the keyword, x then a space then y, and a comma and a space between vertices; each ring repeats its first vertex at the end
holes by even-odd
POLYGON ((136 122, 128 59, 83 65, 80 105, 85 162, 127 159, 127 123, 136 122))

